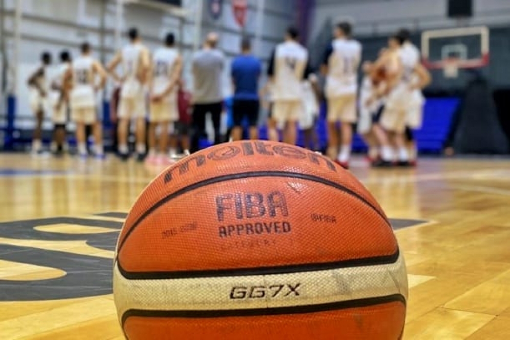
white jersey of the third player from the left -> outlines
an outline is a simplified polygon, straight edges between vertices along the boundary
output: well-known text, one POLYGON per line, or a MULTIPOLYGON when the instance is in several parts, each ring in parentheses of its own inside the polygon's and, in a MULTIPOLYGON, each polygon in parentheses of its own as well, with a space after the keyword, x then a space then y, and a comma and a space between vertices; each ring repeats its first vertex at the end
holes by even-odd
POLYGON ((71 107, 95 106, 94 93, 94 58, 80 56, 71 64, 73 72, 73 90, 71 91, 71 107))

